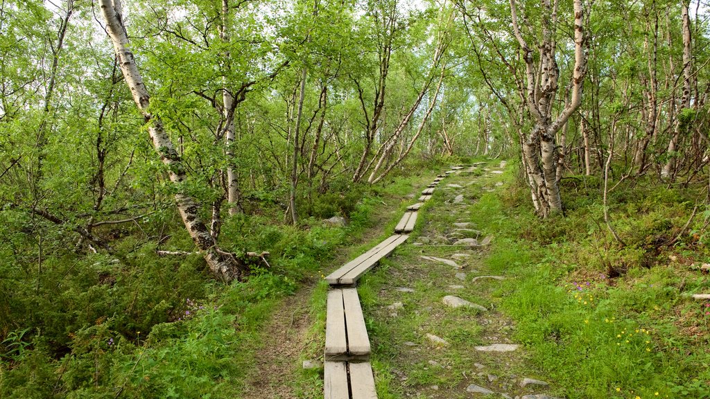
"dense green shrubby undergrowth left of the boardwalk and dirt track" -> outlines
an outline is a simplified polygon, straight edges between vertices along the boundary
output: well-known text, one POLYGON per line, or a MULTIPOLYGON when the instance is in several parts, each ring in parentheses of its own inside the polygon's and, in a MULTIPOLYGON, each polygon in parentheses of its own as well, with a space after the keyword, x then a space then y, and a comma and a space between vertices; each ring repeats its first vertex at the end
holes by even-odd
MULTIPOLYGON (((31 221, 14 215, 0 227, 8 237, 0 243, 0 397, 238 397, 280 298, 319 280, 337 250, 378 224, 379 209, 400 206, 418 178, 393 175, 311 197, 304 207, 311 215, 297 227, 274 222, 278 212, 263 207, 225 219, 222 248, 270 253, 231 285, 214 281, 199 255, 157 256, 154 241, 141 238, 161 236, 160 249, 190 251, 170 209, 119 231, 114 246, 123 260, 77 254, 65 240, 40 270, 22 251, 35 245, 21 233, 31 221), (349 224, 322 222, 334 215, 349 224)), ((320 378, 315 371, 307 381, 320 378)))

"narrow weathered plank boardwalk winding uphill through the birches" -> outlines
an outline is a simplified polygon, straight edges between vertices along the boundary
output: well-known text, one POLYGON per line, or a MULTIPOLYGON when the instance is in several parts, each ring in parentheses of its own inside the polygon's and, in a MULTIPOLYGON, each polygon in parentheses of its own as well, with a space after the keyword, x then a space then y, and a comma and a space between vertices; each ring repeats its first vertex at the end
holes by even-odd
POLYGON ((452 166, 422 191, 419 202, 407 207, 407 212, 395 226, 395 234, 389 236, 369 251, 345 263, 330 273, 325 280, 328 291, 324 349, 324 398, 325 399, 377 399, 375 378, 370 363, 370 340, 362 312, 357 280, 395 248, 403 244, 414 230, 419 210, 430 200, 435 187, 444 177, 463 166, 452 166))

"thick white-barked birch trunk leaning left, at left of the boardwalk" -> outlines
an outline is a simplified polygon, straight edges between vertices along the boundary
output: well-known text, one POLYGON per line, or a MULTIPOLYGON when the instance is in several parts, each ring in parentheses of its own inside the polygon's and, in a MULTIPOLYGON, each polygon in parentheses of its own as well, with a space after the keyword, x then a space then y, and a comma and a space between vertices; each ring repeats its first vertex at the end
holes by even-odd
MULTIPOLYGON (((129 48, 126 28, 123 21, 121 21, 121 0, 99 0, 99 4, 107 23, 109 38, 111 38, 111 43, 114 45, 121 72, 123 72, 126 84, 131 89, 133 100, 146 119, 148 133, 150 133, 155 151, 160 155, 160 160, 168 166, 170 181, 176 186, 180 186, 187 180, 185 167, 182 165, 182 159, 178 152, 175 151, 168 133, 165 132, 160 117, 153 116, 148 112, 151 97, 148 94, 146 85, 143 84, 141 72, 138 71, 138 65, 136 65, 136 60, 133 58, 133 53, 129 48)), ((226 253, 219 249, 214 237, 212 237, 209 229, 200 218, 198 213, 200 207, 195 199, 180 191, 178 190, 178 193, 175 194, 175 202, 178 205, 182 222, 185 223, 185 228, 190 233, 192 240, 195 241, 200 253, 204 256, 204 260, 207 261, 209 270, 217 278, 224 281, 229 282, 239 278, 244 271, 244 265, 234 258, 231 253, 226 253)))

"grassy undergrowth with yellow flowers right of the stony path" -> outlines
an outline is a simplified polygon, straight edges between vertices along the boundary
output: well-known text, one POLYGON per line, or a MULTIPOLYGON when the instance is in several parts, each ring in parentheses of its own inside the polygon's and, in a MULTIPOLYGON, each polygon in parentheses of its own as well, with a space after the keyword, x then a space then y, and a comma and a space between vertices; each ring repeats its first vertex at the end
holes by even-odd
POLYGON ((702 189, 622 182, 608 200, 622 243, 586 178, 563 182, 564 217, 535 217, 512 173, 472 207, 496 236, 488 266, 513 277, 501 295, 515 338, 567 398, 710 398, 710 305, 689 299, 710 288, 697 270, 710 212, 683 229, 702 189))

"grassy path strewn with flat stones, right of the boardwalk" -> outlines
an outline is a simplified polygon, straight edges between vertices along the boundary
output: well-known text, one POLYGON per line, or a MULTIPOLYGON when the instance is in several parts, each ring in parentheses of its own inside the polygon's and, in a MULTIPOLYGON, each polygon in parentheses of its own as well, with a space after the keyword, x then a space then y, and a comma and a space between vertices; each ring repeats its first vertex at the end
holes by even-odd
POLYGON ((499 190, 505 167, 503 161, 447 173, 448 190, 365 287, 378 303, 366 310, 372 359, 380 365, 376 383, 394 398, 559 398, 554 381, 526 366, 515 325, 498 311, 502 284, 515 276, 488 270, 484 259, 495 237, 469 217, 481 192, 499 190))

